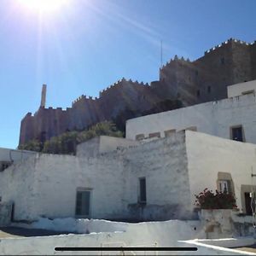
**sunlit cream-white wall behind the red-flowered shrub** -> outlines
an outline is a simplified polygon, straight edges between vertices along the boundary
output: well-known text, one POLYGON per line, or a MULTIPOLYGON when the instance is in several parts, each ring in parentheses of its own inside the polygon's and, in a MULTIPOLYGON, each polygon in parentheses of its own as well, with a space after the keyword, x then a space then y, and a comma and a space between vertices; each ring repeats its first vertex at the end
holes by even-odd
MULTIPOLYGON (((234 182, 237 206, 244 211, 241 206, 241 184, 252 184, 252 167, 256 173, 256 145, 186 131, 186 147, 191 207, 195 207, 195 195, 203 189, 215 192, 218 172, 229 172, 234 182)), ((253 183, 256 184, 256 177, 253 183)))

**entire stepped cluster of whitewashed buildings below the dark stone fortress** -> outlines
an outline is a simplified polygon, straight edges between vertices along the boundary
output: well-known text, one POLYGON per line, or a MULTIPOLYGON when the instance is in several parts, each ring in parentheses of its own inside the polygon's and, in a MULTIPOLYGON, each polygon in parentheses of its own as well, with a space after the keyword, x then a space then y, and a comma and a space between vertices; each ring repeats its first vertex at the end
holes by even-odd
POLYGON ((96 137, 79 144, 76 155, 16 161, 0 172, 2 201, 12 202, 15 220, 188 219, 196 218, 195 195, 227 189, 250 214, 256 99, 243 93, 253 90, 247 85, 232 85, 234 96, 219 102, 128 120, 126 139, 96 137))

